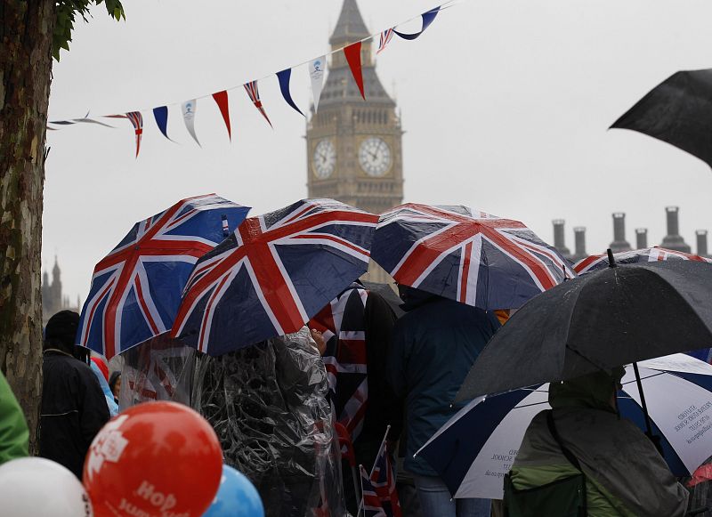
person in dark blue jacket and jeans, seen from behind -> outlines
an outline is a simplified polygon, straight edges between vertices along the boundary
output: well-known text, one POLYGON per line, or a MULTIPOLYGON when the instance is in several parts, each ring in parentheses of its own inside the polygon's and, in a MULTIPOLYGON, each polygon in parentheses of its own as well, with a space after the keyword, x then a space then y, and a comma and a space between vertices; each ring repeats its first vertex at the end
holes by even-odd
POLYGON ((386 375, 406 399, 405 470, 413 474, 424 517, 489 517, 487 499, 452 499, 424 458, 413 457, 461 406, 453 406, 460 384, 499 321, 494 312, 399 286, 408 311, 393 328, 386 375))

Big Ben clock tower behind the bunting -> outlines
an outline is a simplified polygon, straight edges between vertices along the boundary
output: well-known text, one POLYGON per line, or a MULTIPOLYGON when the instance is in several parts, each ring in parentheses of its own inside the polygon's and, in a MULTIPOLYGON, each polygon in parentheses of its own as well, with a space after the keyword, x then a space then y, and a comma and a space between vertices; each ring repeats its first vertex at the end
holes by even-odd
MULTIPOLYGON (((344 0, 332 50, 369 36, 356 0, 344 0)), ((371 42, 361 45, 364 101, 344 53, 332 54, 319 110, 307 125, 310 198, 335 198, 380 214, 401 204, 401 120, 376 76, 371 42)))

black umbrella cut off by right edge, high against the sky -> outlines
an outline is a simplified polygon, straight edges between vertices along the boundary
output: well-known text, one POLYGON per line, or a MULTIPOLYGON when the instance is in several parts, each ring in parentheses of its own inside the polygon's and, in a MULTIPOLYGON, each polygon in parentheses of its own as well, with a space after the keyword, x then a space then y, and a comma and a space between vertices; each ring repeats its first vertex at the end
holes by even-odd
POLYGON ((667 141, 712 167, 712 69, 667 77, 611 127, 667 141))

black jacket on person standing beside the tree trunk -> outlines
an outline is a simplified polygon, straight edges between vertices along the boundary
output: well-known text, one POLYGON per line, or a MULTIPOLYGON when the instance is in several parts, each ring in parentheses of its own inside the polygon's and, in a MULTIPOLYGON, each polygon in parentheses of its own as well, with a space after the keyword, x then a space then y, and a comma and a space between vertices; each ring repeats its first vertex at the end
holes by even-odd
POLYGON ((99 380, 81 361, 59 351, 45 351, 39 455, 63 464, 82 479, 89 446, 109 407, 99 380))

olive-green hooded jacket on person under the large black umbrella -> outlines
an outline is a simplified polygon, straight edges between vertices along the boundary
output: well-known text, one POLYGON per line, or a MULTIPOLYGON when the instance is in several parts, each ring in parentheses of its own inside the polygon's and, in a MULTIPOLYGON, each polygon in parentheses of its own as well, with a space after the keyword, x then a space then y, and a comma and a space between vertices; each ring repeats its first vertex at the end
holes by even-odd
MULTIPOLYGON (((677 517, 688 493, 651 440, 611 405, 623 368, 551 384, 549 404, 562 442, 587 477, 589 517, 677 517)), ((532 489, 578 473, 546 425, 533 418, 514 460, 515 489, 532 489)))

